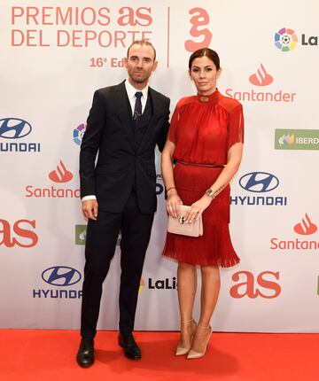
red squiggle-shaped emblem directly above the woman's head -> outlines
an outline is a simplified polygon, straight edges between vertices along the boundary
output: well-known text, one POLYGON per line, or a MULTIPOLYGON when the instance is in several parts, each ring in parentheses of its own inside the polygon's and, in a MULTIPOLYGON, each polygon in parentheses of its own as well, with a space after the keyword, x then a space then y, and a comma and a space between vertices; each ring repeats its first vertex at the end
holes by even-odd
POLYGON ((204 39, 202 42, 196 43, 192 40, 186 40, 185 42, 185 49, 186 51, 197 51, 201 48, 206 48, 209 46, 209 44, 212 41, 212 33, 207 29, 201 29, 199 30, 198 27, 209 25, 209 16, 205 9, 203 8, 192 8, 190 11, 190 14, 194 14, 194 16, 191 18, 191 30, 190 34, 192 37, 200 37, 203 36, 204 39))

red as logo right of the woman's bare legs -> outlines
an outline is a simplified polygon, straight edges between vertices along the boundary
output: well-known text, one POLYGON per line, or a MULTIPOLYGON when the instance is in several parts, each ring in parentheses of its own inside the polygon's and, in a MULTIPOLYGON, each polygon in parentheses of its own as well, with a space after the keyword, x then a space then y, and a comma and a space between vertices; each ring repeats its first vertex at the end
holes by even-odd
POLYGON ((279 280, 278 271, 263 271, 256 277, 250 271, 237 271, 231 279, 237 283, 230 288, 230 295, 236 299, 245 296, 250 299, 274 299, 281 292, 281 287, 276 282, 279 280))

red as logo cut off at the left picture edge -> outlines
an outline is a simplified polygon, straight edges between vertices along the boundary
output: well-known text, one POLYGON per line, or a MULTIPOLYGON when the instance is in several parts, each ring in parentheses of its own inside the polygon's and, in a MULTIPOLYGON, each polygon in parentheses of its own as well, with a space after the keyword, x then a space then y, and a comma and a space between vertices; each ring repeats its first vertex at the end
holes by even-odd
POLYGON ((19 220, 13 223, 0 219, 0 245, 30 248, 38 242, 35 220, 19 220))

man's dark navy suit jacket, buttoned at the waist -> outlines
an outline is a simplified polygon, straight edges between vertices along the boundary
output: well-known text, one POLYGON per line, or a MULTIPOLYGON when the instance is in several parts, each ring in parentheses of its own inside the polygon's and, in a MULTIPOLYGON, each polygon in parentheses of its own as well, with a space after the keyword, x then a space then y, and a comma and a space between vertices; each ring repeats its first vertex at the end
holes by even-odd
POLYGON ((149 88, 149 102, 147 126, 137 127, 125 82, 94 94, 81 145, 80 181, 82 197, 96 195, 100 210, 121 213, 134 186, 141 212, 156 211, 154 150, 158 144, 161 151, 167 138, 169 98, 149 88), (134 128, 141 127, 144 136, 136 146, 134 128))

